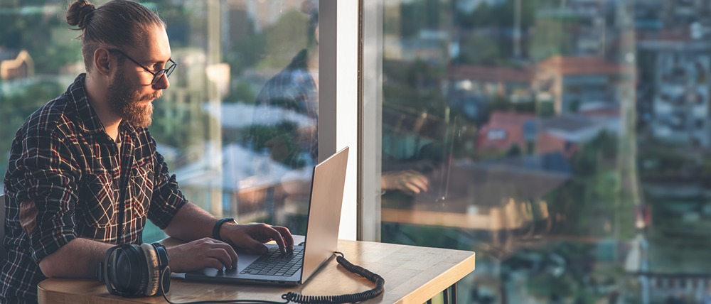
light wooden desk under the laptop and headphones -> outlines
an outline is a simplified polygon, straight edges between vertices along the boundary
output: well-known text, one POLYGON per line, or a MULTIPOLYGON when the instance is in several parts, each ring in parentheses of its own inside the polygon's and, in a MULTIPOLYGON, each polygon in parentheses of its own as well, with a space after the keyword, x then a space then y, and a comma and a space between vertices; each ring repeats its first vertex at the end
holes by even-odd
MULTIPOLYGON (((338 251, 351 263, 385 278, 385 293, 364 303, 425 303, 474 271, 474 252, 368 241, 338 241, 338 251)), ((346 271, 336 259, 302 286, 272 287, 186 282, 173 278, 169 299, 259 299, 283 301, 288 291, 304 295, 338 295, 367 291, 374 283, 346 271)), ((163 297, 122 298, 110 295, 97 281, 50 278, 37 286, 39 303, 165 303, 163 297)))

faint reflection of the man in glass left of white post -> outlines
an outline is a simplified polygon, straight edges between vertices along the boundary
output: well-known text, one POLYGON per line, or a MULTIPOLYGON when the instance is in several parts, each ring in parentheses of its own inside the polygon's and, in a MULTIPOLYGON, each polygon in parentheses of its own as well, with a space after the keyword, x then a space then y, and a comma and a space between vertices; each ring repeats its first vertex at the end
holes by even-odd
MULTIPOLYGON (((246 204, 242 208, 247 207, 242 210, 262 205, 272 217, 268 219, 272 223, 284 221, 277 214, 280 214, 279 209, 287 197, 297 201, 308 200, 311 168, 319 156, 318 1, 304 1, 300 9, 309 17, 306 48, 300 50, 287 67, 262 87, 257 96, 258 107, 250 131, 252 148, 262 154, 257 158, 268 156, 291 172, 255 172, 257 175, 271 175, 262 183, 273 185, 242 189, 239 197, 240 202, 246 204)), ((258 160, 264 161, 268 160, 258 160)), ((295 222, 290 222, 289 226, 299 229, 295 222)))

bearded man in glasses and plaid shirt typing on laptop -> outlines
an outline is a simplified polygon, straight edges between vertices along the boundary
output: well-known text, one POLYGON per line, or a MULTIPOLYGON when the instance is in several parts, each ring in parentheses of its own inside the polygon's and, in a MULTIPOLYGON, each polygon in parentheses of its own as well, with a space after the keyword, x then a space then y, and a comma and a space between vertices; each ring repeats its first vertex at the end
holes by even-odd
POLYGON ((109 248, 142 242, 146 219, 188 241, 168 249, 173 272, 236 266, 230 244, 264 252, 273 239, 293 249, 287 228, 218 221, 169 175, 146 129, 176 68, 163 21, 127 0, 98 9, 78 0, 67 20, 82 31, 87 72, 13 141, 0 303, 36 302, 45 278, 94 277, 109 248))

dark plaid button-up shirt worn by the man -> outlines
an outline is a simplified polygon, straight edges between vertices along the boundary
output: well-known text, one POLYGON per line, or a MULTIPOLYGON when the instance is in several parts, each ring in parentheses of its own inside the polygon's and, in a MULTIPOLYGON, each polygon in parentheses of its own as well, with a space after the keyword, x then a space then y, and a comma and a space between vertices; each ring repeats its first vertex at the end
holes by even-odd
POLYGON ((186 203, 147 129, 122 123, 119 153, 84 82, 79 75, 34 112, 12 143, 0 303, 36 302, 36 286, 46 278, 39 262, 73 239, 140 244, 146 218, 164 229, 186 203), (31 201, 36 227, 27 234, 18 202, 31 201))

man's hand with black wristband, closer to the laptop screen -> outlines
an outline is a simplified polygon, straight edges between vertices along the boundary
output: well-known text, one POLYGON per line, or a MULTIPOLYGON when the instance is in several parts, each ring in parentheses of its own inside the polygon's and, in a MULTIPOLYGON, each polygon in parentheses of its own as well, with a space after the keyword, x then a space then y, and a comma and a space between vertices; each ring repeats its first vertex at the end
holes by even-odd
POLYGON ((268 224, 230 224, 220 227, 220 237, 230 244, 258 254, 267 253, 264 243, 276 241, 282 253, 294 251, 294 238, 289 229, 268 224))

